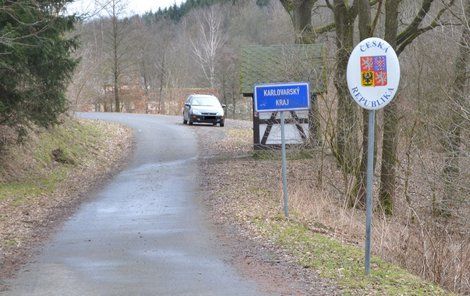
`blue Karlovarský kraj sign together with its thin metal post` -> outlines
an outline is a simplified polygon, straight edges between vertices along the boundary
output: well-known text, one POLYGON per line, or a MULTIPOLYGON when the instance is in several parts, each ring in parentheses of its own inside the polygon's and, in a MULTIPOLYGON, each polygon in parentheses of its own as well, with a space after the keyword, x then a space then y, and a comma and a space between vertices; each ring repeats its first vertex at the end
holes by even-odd
MULTIPOLYGON (((284 111, 310 109, 309 84, 300 82, 256 85, 253 94, 255 112, 279 112, 281 116, 282 192, 284 215, 289 218, 284 111)), ((275 117, 275 114, 273 116, 275 117)))

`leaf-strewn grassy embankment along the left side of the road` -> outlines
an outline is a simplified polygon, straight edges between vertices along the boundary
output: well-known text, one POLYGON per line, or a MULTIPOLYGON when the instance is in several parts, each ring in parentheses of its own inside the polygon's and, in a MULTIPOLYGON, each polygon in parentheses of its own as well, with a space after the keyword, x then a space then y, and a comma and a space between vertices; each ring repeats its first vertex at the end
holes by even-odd
POLYGON ((64 119, 30 131, 10 145, 0 162, 0 287, 29 260, 53 229, 67 219, 123 165, 132 132, 117 124, 64 119))

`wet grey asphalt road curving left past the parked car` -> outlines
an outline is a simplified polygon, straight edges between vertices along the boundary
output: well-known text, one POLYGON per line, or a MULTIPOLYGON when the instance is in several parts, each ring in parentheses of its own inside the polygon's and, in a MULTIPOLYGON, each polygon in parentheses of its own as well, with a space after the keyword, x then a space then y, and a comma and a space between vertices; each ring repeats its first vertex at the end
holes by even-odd
POLYGON ((264 295, 211 230, 198 201, 196 138, 181 118, 80 116, 132 127, 135 154, 4 295, 264 295))

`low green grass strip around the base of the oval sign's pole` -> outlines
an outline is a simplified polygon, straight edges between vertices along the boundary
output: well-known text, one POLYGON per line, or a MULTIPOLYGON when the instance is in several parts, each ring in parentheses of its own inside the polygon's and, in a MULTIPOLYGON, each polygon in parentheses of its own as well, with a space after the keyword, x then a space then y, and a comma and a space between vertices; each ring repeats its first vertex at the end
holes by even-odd
POLYGON ((364 251, 305 226, 278 219, 254 221, 258 229, 291 253, 299 264, 335 281, 344 295, 449 295, 437 285, 372 256, 371 275, 364 274, 364 251))

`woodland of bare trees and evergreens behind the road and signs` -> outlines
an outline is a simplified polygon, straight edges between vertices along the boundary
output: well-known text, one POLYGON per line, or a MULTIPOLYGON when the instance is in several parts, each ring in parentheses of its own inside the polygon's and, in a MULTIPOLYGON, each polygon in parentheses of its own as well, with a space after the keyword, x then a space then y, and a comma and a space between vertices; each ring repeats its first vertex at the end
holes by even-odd
POLYGON ((60 13, 64 2, 46 2, 3 5, 13 12, 0 19, 10 24, 0 31, 0 124, 53 124, 67 107, 179 115, 185 95, 197 91, 217 94, 228 117, 250 120, 242 49, 323 44, 327 91, 314 104, 311 146, 319 161, 332 159, 342 184, 328 170, 318 171, 316 184, 334 188, 347 211, 364 207, 369 127, 350 98, 346 65, 360 40, 386 40, 402 76, 397 96, 377 114, 375 215, 378 225, 396 227, 377 227, 373 252, 470 293, 470 1, 191 0, 126 16, 126 2, 111 0, 78 18, 60 13), (44 21, 35 23, 44 38, 29 34, 27 22, 11 25, 26 9, 44 21), (54 26, 41 27, 48 22, 54 26), (48 50, 25 51, 30 42, 48 50))

